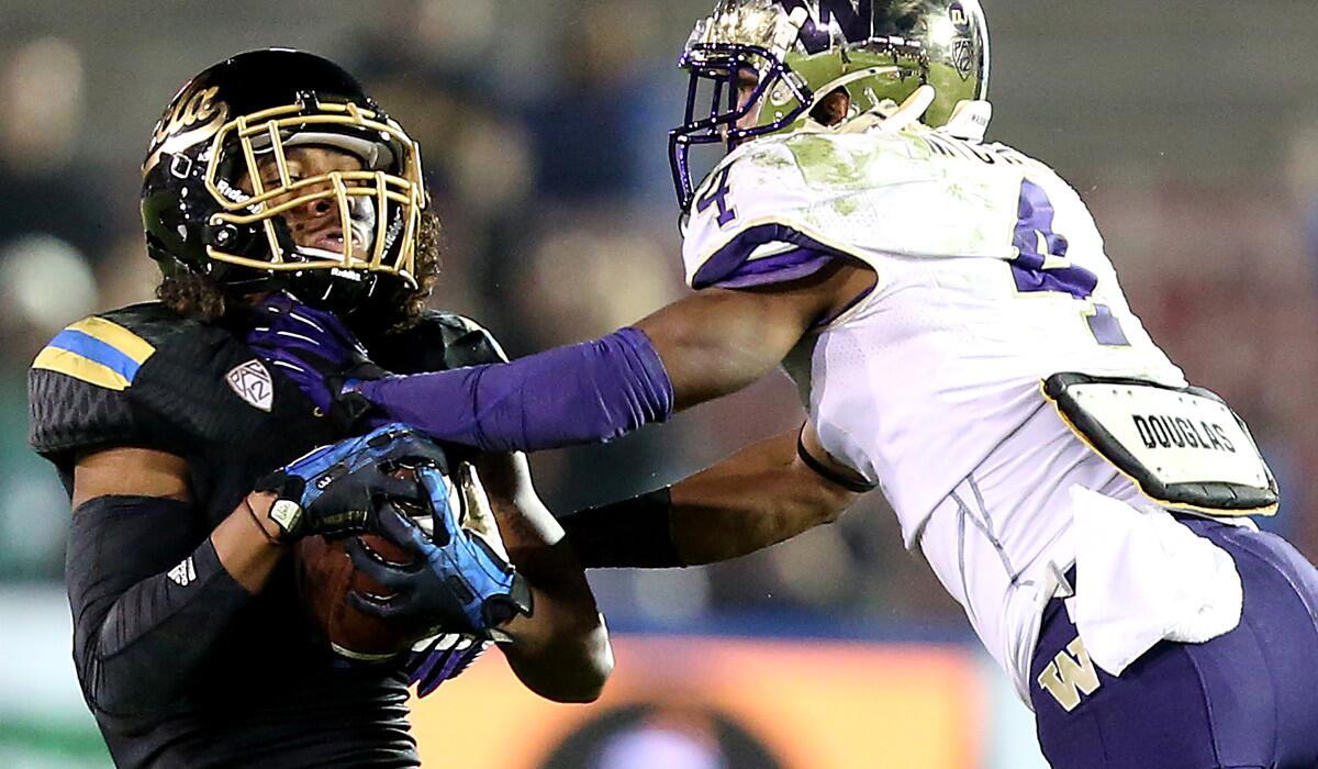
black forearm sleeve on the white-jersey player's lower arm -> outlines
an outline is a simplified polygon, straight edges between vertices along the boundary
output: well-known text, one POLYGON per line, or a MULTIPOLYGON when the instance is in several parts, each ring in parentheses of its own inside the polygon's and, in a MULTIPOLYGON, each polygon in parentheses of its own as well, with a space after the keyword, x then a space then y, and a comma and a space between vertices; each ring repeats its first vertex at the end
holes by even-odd
POLYGON ((672 541, 671 521, 670 487, 559 518, 587 569, 687 566, 672 541))

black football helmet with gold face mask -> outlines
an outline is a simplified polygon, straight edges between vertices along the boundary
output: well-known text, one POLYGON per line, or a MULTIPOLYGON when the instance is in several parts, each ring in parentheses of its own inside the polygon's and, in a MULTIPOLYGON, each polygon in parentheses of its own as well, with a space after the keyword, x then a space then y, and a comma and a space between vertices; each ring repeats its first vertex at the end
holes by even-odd
POLYGON ((188 80, 142 162, 146 247, 166 274, 285 288, 336 310, 416 286, 426 206, 416 142, 352 75, 298 50, 243 53, 188 80), (293 178, 285 152, 307 145, 351 153, 362 170, 293 178), (337 206, 341 253, 298 245, 281 216, 319 200, 337 206))

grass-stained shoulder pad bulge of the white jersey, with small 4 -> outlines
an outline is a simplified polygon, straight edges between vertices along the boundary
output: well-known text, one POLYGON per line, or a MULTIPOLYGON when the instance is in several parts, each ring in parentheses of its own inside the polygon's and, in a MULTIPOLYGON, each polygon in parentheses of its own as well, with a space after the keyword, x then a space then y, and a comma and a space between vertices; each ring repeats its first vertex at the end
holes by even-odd
POLYGON ((1010 243, 988 235, 1011 231, 1021 178, 1021 166, 948 157, 907 131, 760 138, 697 190, 687 281, 701 289, 820 255, 1004 257, 1010 243))

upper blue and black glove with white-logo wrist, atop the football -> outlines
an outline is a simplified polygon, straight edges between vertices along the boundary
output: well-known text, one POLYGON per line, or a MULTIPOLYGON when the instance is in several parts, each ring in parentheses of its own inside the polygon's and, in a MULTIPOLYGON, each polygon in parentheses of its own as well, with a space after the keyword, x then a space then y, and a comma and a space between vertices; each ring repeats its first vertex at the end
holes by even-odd
POLYGON ((428 508, 430 491, 423 484, 393 475, 418 466, 443 474, 443 448, 395 422, 322 446, 262 477, 254 491, 278 496, 269 517, 279 526, 279 539, 347 537, 372 528, 372 512, 390 501, 428 508))

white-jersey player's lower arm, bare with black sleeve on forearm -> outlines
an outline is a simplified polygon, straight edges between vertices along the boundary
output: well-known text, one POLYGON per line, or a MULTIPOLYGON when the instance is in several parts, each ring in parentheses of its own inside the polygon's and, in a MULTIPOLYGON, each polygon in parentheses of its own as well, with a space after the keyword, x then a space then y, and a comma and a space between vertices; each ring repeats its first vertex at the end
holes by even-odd
POLYGON ((587 567, 696 566, 830 524, 865 491, 805 425, 672 487, 572 513, 561 524, 587 567))

